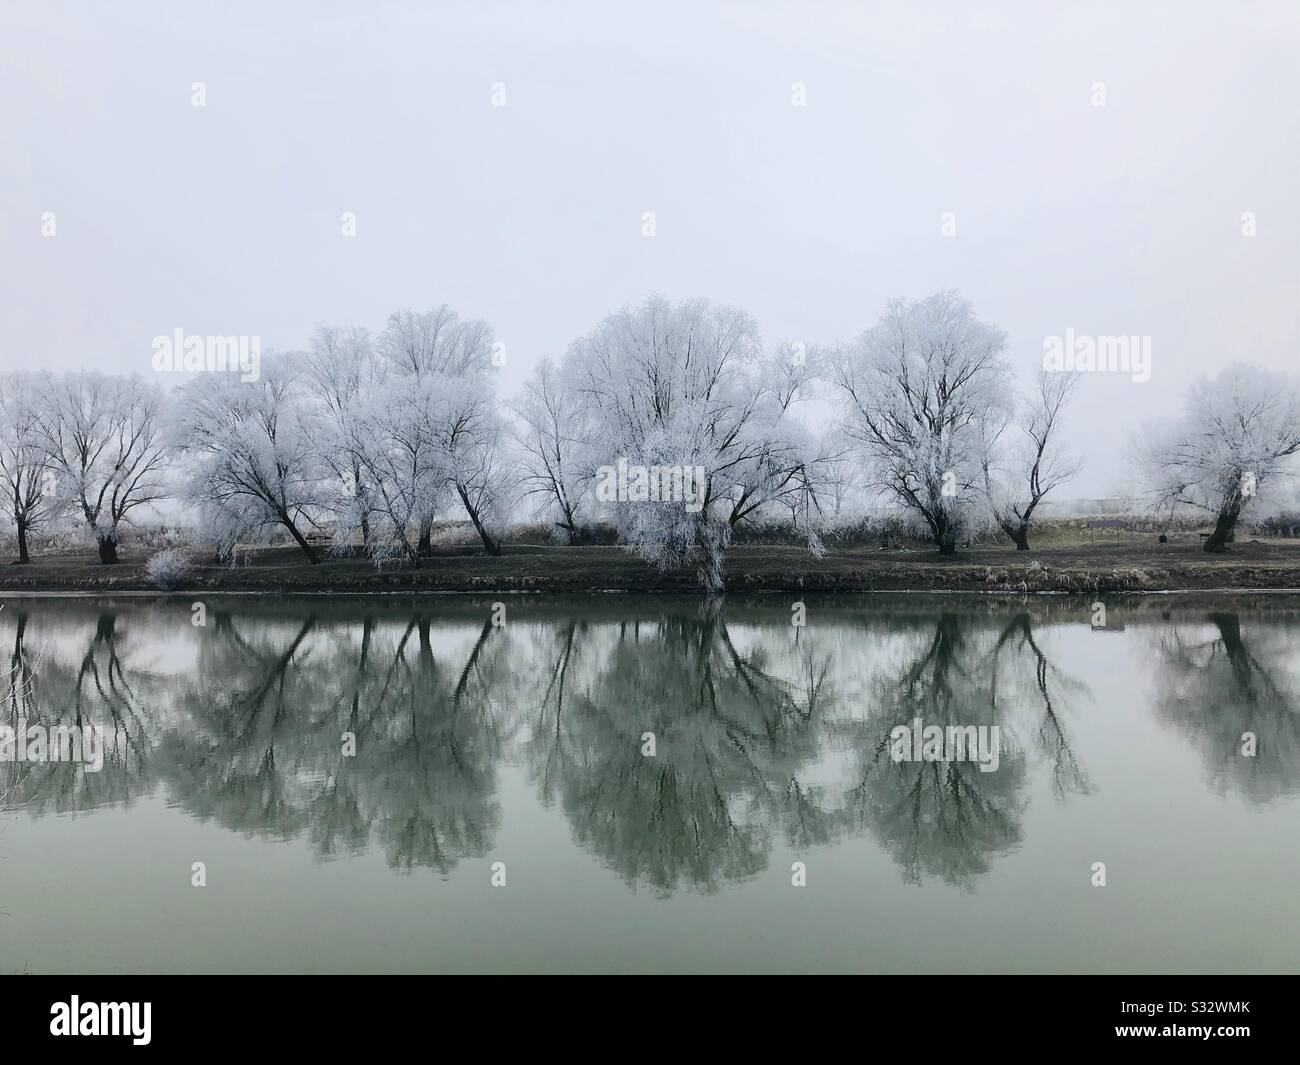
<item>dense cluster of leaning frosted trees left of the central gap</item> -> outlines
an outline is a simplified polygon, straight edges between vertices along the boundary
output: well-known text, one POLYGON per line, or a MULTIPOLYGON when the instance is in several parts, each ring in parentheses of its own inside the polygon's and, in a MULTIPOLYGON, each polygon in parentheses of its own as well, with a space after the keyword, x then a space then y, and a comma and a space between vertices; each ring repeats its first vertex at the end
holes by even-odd
POLYGON ((174 440, 204 527, 224 551, 283 529, 315 562, 307 534, 328 528, 378 560, 420 564, 434 520, 460 508, 499 554, 508 476, 491 354, 484 322, 439 307, 393 315, 373 341, 324 326, 252 385, 186 385, 174 440))

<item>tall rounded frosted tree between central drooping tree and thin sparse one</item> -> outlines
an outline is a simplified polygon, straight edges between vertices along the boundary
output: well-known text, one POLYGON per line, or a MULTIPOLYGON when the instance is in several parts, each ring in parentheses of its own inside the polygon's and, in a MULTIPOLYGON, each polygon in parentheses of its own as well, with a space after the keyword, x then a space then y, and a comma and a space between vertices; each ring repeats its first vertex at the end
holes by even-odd
POLYGON ((835 352, 844 433, 874 486, 954 554, 983 486, 982 421, 1005 403, 1005 337, 957 293, 890 300, 880 322, 835 352))

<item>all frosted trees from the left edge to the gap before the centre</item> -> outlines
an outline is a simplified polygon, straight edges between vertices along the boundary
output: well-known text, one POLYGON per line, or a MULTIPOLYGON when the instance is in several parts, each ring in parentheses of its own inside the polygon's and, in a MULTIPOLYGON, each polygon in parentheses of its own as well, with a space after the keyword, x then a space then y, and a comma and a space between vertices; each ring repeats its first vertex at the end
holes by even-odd
POLYGON ((74 514, 100 560, 116 562, 122 521, 168 482, 224 555, 282 532, 315 563, 312 540, 329 532, 419 563, 452 506, 499 553, 504 421, 486 325, 442 307, 393 315, 374 341, 321 328, 308 351, 259 369, 172 393, 94 372, 0 380, 3 506, 20 560, 31 532, 74 514))

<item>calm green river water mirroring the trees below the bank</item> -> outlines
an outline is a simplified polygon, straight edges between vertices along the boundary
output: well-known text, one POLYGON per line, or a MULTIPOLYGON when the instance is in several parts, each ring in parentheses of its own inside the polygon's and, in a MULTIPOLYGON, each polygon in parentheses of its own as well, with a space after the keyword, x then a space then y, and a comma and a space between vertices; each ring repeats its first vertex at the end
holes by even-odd
POLYGON ((1300 601, 1108 607, 5 599, 0 973, 1300 971, 1300 601))

